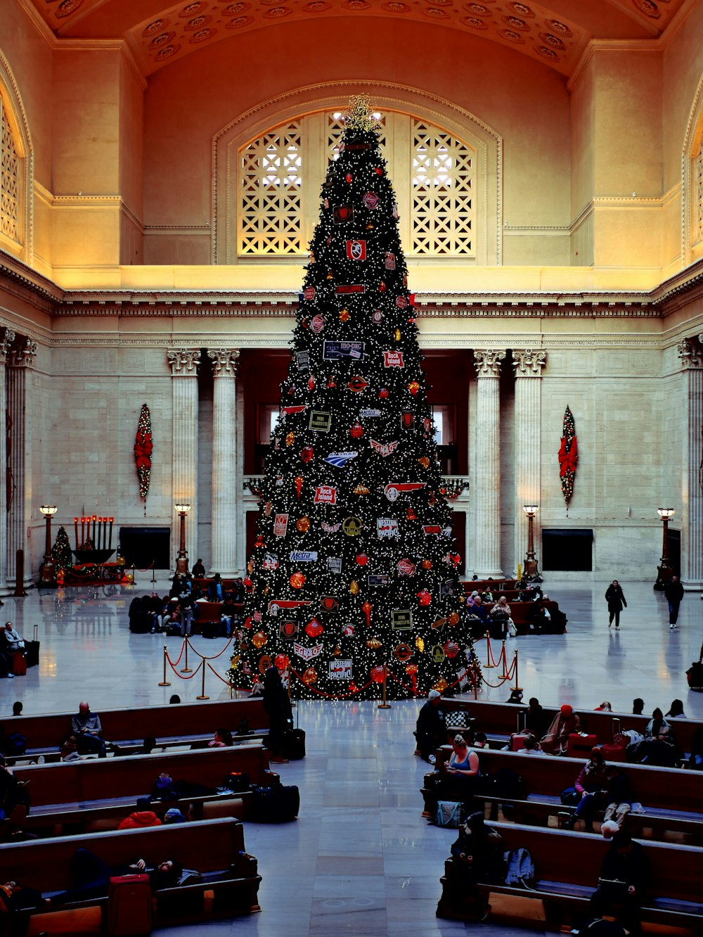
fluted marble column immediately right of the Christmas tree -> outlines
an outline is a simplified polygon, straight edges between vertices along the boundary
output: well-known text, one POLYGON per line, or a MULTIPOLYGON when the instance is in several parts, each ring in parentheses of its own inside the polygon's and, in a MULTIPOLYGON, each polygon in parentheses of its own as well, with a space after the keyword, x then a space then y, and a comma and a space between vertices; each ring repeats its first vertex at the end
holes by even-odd
POLYGON ((503 576, 501 569, 500 374, 505 351, 474 351, 476 376, 476 468, 472 490, 476 543, 474 572, 479 579, 503 576))

